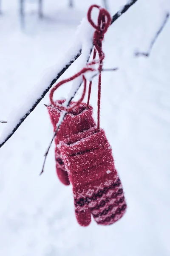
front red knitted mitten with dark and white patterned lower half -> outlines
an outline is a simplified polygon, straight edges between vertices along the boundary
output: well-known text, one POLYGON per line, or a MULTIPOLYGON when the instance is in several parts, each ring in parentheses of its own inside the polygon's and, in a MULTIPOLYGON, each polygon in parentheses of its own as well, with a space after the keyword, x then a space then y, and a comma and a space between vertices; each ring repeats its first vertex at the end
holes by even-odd
POLYGON ((100 225, 122 218, 127 205, 105 132, 90 128, 68 137, 58 147, 73 185, 78 223, 88 226, 91 214, 100 225))

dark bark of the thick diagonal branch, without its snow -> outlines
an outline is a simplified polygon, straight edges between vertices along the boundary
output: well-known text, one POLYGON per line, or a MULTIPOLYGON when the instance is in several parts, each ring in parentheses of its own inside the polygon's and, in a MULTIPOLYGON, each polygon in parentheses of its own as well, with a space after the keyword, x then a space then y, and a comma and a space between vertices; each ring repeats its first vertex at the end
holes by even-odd
MULTIPOLYGON (((133 6, 134 3, 136 3, 137 0, 131 0, 129 3, 127 3, 121 10, 119 10, 115 15, 113 15, 112 17, 112 22, 111 24, 113 24, 113 22, 115 22, 122 14, 124 14, 131 6, 133 6)), ((93 48, 93 46, 92 46, 93 48)), ((40 95, 40 97, 36 100, 36 102, 34 103, 34 105, 29 109, 29 111, 27 111, 27 113, 25 113, 25 115, 23 115, 23 117, 20 119, 20 121, 17 123, 17 125, 14 127, 14 129, 11 131, 10 134, 8 134, 8 136, 6 137, 6 139, 0 143, 0 148, 11 138, 11 136, 14 134, 15 131, 17 131, 17 129, 20 127, 20 125, 24 122, 24 120, 29 116, 29 114, 37 107, 37 105, 40 103, 40 101, 44 98, 44 96, 46 95, 46 93, 48 93, 48 91, 51 89, 51 87, 53 86, 53 84, 55 84, 55 82, 59 79, 60 76, 62 76, 62 74, 68 69, 68 67, 71 66, 71 64, 81 55, 81 50, 79 52, 77 52, 77 55, 75 55, 74 59, 70 60, 68 62, 68 64, 65 65, 64 68, 62 68, 62 70, 60 70, 60 72, 57 74, 57 76, 51 81, 51 84, 44 90, 44 92, 42 93, 42 95, 40 95)))

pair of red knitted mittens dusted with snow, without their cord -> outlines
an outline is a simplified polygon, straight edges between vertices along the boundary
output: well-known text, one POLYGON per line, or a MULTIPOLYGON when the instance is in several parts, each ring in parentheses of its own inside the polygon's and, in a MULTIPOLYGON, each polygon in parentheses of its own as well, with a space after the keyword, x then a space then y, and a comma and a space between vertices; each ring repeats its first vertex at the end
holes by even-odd
MULTIPOLYGON (((61 112, 53 106, 48 112, 55 131, 61 112)), ((85 103, 79 105, 66 115, 55 138, 57 175, 63 184, 72 183, 81 226, 90 224, 91 214, 97 224, 113 224, 127 207, 111 146, 105 132, 95 128, 92 112, 85 103)))

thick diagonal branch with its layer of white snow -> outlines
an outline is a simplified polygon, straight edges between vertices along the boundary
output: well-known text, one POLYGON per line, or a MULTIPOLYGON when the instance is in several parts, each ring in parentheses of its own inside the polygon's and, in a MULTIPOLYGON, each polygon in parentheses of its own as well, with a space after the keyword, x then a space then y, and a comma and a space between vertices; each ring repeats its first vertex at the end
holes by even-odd
MULTIPOLYGON (((131 6, 133 6, 134 3, 136 3, 137 0, 130 0, 128 3, 119 10, 115 15, 112 17, 112 22, 115 22, 122 14, 124 14, 131 6)), ((91 31, 91 29, 90 29, 91 31)), ((93 32, 90 33, 91 39, 93 37, 93 32)), ((1 138, 0 138, 0 148, 8 141, 8 139, 11 138, 11 136, 14 134, 15 131, 20 127, 20 125, 24 122, 24 120, 29 116, 29 114, 37 107, 37 105, 40 103, 40 101, 44 98, 46 93, 51 89, 51 87, 56 83, 56 81, 59 79, 60 76, 68 69, 68 67, 71 66, 71 64, 81 55, 81 43, 77 39, 76 42, 72 45, 72 47, 68 50, 68 52, 65 53, 65 59, 58 61, 60 65, 54 68, 53 72, 50 74, 51 77, 54 77, 53 79, 46 78, 44 79, 43 86, 41 84, 40 88, 37 88, 37 91, 34 92, 34 95, 30 96, 29 103, 26 106, 23 106, 22 112, 18 114, 18 117, 14 119, 12 123, 8 127, 6 127, 6 130, 3 132, 1 138), (57 73, 57 75, 54 75, 57 73), (49 80, 52 80, 49 82, 49 80), (49 84, 48 87, 46 87, 46 84, 49 84)), ((91 50, 93 49, 93 44, 91 40, 91 50)))

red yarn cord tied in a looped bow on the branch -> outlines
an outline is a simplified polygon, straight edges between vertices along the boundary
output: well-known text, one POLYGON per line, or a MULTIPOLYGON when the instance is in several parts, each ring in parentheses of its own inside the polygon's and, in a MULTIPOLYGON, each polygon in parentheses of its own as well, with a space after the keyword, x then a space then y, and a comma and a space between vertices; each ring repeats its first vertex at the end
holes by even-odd
MULTIPOLYGON (((87 80, 85 79, 84 74, 86 72, 88 72, 88 71, 96 71, 95 68, 90 67, 90 66, 92 66, 92 65, 94 65, 96 63, 99 63, 99 67, 98 67, 98 71, 99 71, 98 100, 97 100, 97 109, 98 109, 98 113, 97 113, 97 128, 99 130, 100 129, 101 72, 102 72, 102 66, 103 66, 103 59, 105 58, 105 54, 104 54, 104 52, 102 52, 102 40, 104 38, 105 32, 108 30, 108 27, 111 24, 111 16, 108 13, 108 11, 105 10, 104 8, 101 8, 98 5, 92 5, 89 8, 89 10, 88 10, 88 21, 94 27, 94 29, 96 29, 96 31, 94 32, 94 39, 93 39, 93 43, 94 43, 93 61, 91 61, 91 63, 89 63, 86 67, 82 68, 82 70, 80 70, 74 76, 71 76, 70 78, 62 80, 58 84, 56 84, 51 89, 51 92, 50 92, 50 102, 51 102, 51 105, 54 105, 55 107, 57 107, 60 110, 63 110, 63 111, 66 111, 66 112, 72 111, 75 107, 77 107, 82 102, 82 100, 85 97, 87 80), (93 8, 99 9, 99 16, 98 16, 98 23, 97 23, 97 25, 91 19, 91 13, 92 13, 92 9, 93 8), (99 61, 95 60, 96 52, 98 52, 99 61), (63 105, 59 105, 56 102, 54 102, 53 95, 54 95, 55 90, 57 90, 57 88, 59 88, 62 84, 65 84, 65 83, 67 83, 69 81, 72 81, 72 80, 76 79, 78 76, 82 76, 82 79, 84 81, 84 88, 83 88, 82 96, 76 102, 76 104, 72 105, 71 107, 65 107, 63 105)), ((91 86, 92 86, 92 82, 90 82, 90 84, 89 84, 87 106, 89 106, 89 102, 90 102, 91 86)))

